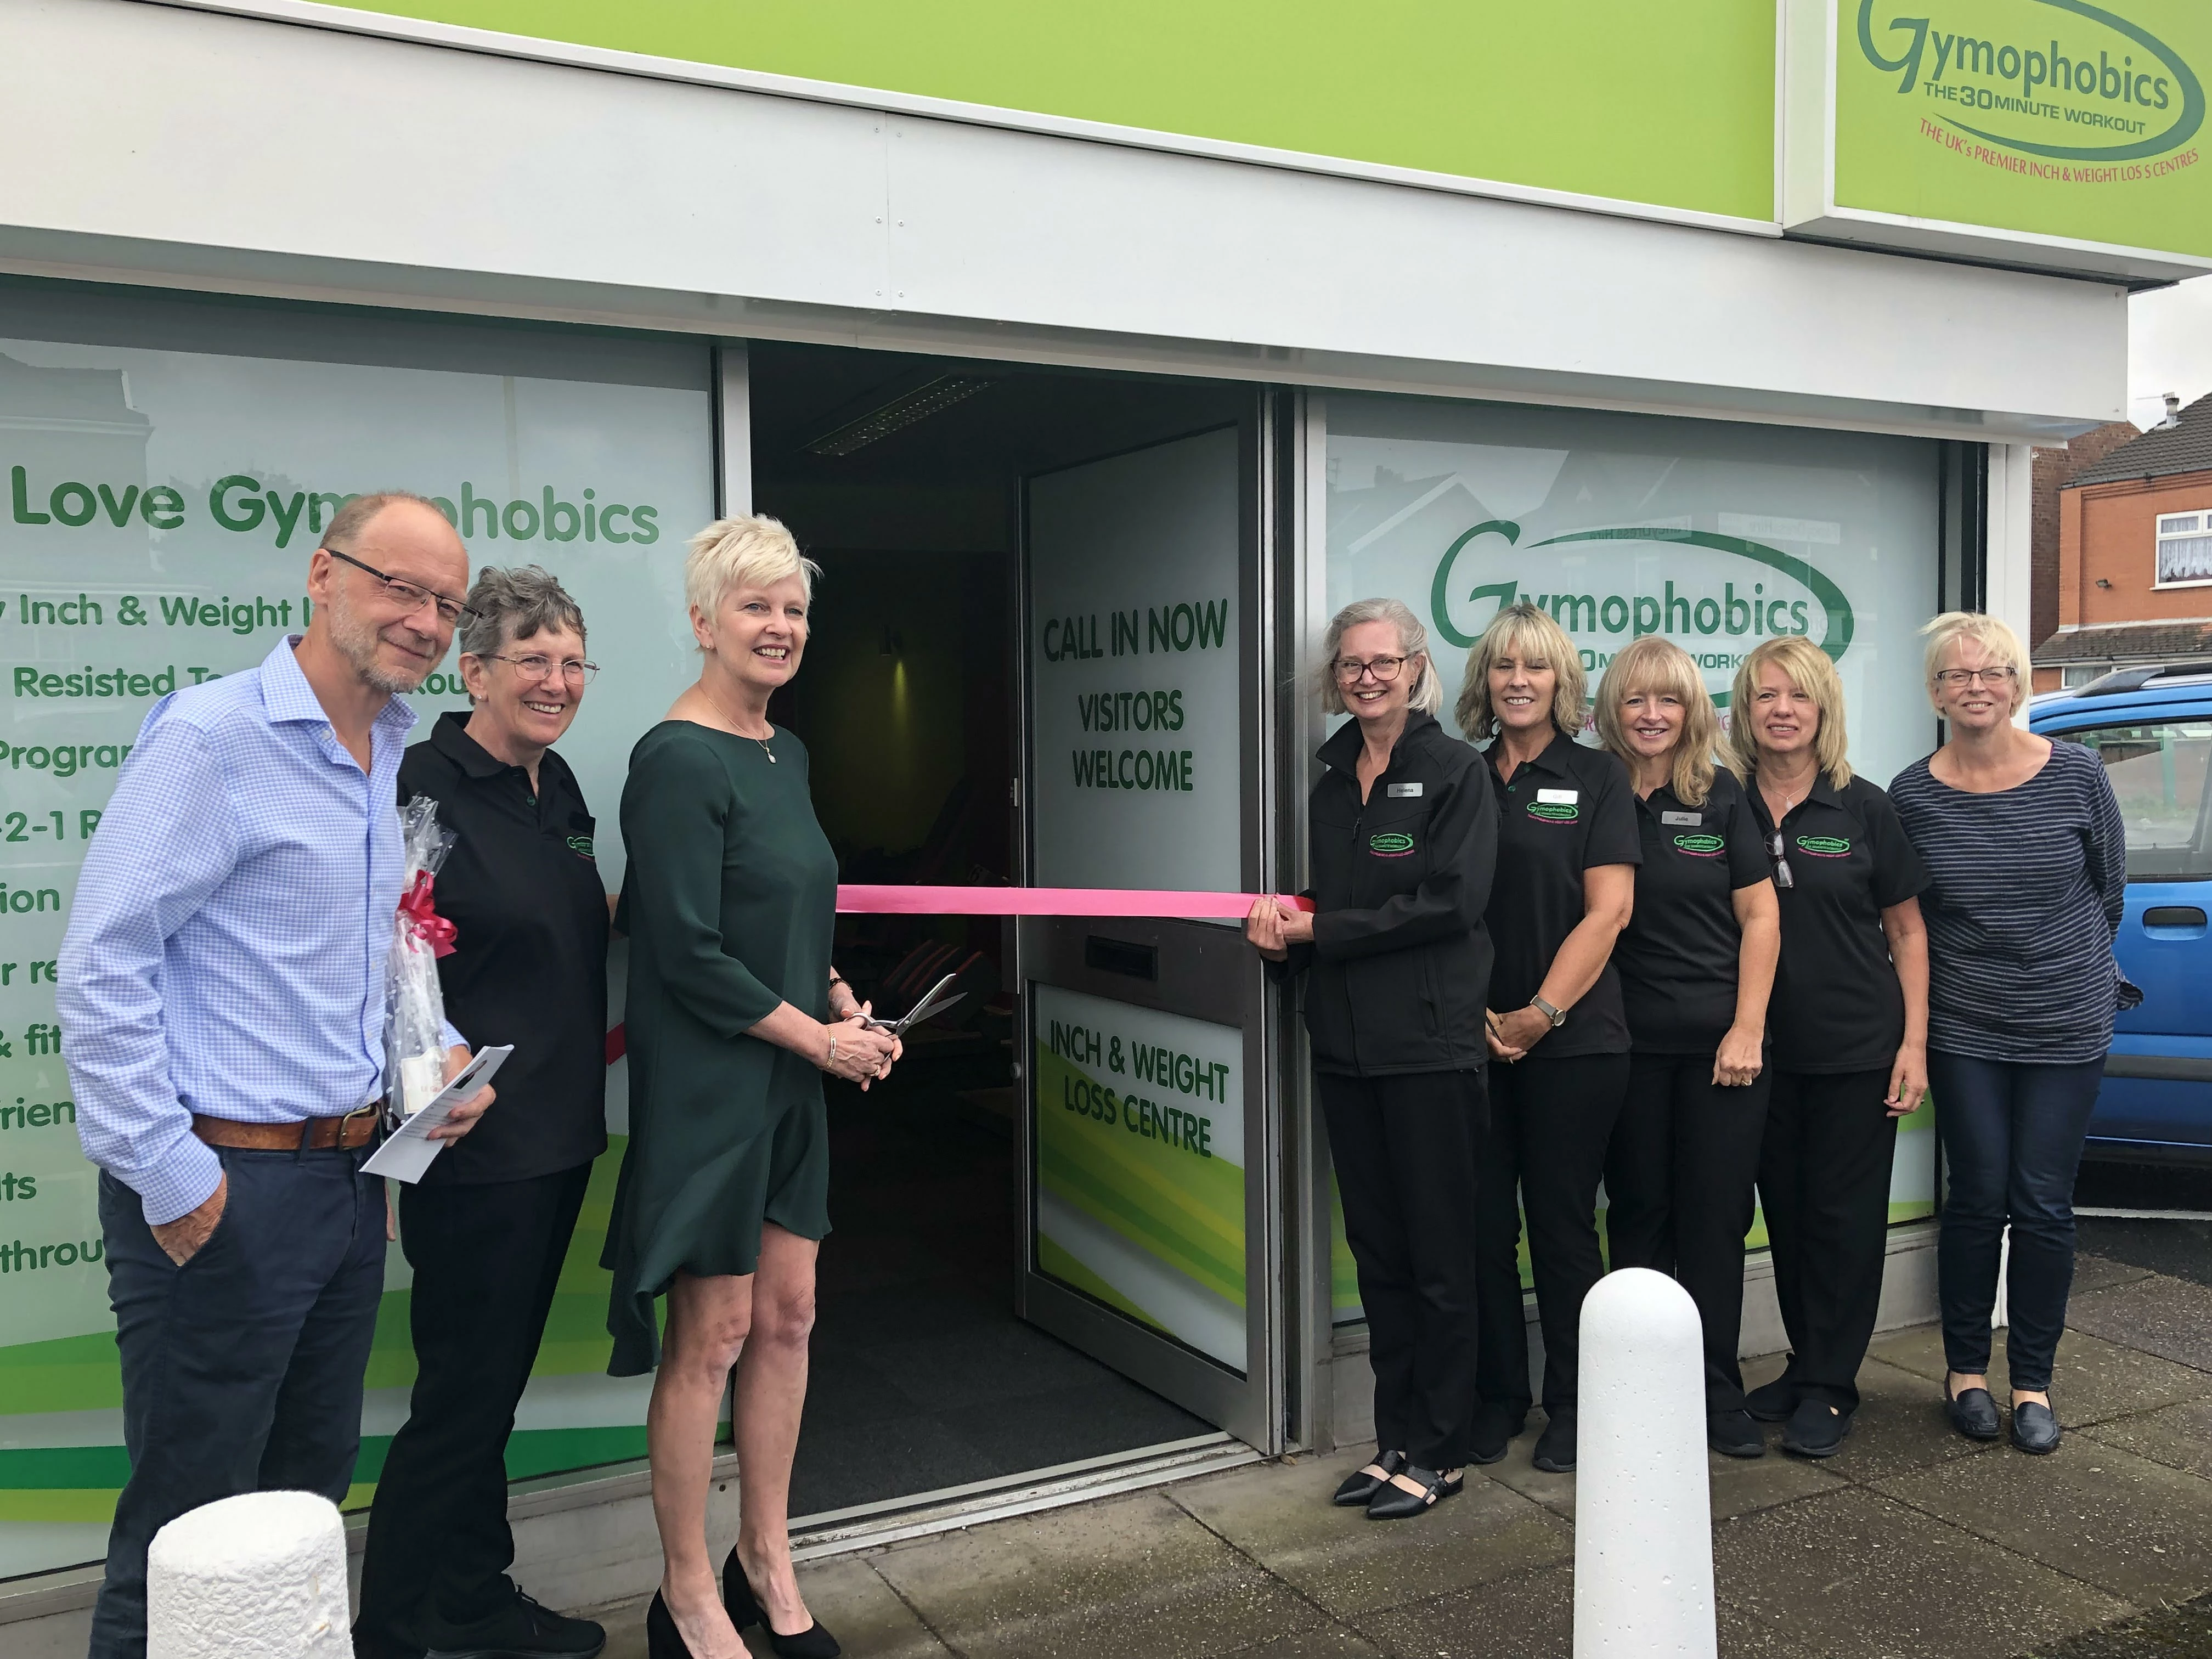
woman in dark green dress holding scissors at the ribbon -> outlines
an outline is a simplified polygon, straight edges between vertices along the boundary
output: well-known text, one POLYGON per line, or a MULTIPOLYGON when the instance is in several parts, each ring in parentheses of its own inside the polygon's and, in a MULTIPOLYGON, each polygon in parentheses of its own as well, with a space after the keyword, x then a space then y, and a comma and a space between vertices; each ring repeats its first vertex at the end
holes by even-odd
POLYGON ((608 1371, 659 1365, 646 1413, 666 1571, 653 1659, 832 1659, 792 1575, 785 1528, 807 1391, 814 1252, 830 1232, 821 1075, 863 1088, 898 1044, 830 964, 836 858, 807 799, 807 752, 768 723, 799 672, 814 564, 770 518, 690 542, 684 595, 703 661, 630 752, 622 792, 630 936, 630 1146, 604 1265, 608 1371), (668 1296, 666 1349, 653 1301, 668 1296), (737 1548, 717 1595, 706 1548, 714 1420, 737 1369, 737 1548))

